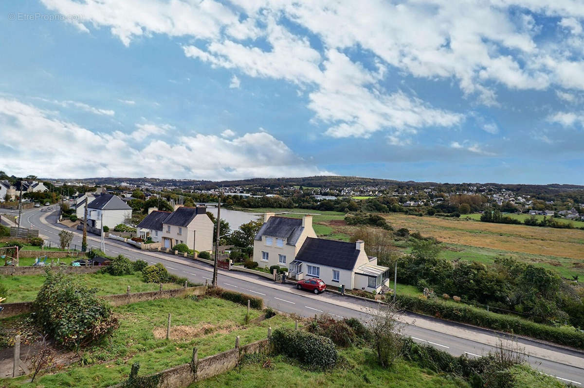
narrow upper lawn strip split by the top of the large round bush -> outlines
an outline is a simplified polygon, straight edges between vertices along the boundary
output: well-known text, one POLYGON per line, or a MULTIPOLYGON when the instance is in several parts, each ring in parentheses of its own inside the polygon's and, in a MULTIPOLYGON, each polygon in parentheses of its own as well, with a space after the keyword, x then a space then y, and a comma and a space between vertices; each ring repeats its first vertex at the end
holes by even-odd
MULTIPOLYGON (((124 294, 129 285, 130 292, 157 291, 159 285, 154 283, 144 283, 142 273, 136 272, 132 275, 112 276, 110 274, 78 274, 75 275, 81 283, 87 287, 98 288, 97 295, 124 294)), ((44 283, 43 275, 8 276, 0 275, 0 283, 8 288, 6 302, 33 301, 44 283)), ((163 284, 164 290, 180 288, 174 283, 163 284)))

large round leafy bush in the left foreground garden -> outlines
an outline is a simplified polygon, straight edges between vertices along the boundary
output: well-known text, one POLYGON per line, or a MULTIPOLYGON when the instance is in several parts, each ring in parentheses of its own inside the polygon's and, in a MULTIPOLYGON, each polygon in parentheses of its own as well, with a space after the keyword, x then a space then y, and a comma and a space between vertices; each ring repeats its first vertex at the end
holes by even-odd
POLYGON ((72 276, 47 269, 33 302, 32 319, 58 344, 78 349, 109 336, 118 326, 112 309, 72 276))

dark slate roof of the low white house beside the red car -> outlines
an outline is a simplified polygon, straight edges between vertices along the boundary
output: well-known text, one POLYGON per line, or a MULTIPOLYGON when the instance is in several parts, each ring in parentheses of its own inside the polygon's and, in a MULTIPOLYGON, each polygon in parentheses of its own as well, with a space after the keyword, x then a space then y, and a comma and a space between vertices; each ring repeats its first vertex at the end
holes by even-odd
POLYGON ((354 242, 307 237, 296 260, 352 270, 360 252, 354 242))

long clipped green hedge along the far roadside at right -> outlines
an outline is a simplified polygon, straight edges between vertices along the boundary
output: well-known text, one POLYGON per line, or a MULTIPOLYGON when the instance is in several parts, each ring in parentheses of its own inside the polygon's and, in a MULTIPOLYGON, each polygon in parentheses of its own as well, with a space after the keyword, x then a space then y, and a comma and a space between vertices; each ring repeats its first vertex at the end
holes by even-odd
POLYGON ((397 295, 397 301, 408 311, 584 349, 584 333, 571 327, 548 326, 513 315, 497 314, 467 305, 452 306, 442 301, 409 295, 397 295))

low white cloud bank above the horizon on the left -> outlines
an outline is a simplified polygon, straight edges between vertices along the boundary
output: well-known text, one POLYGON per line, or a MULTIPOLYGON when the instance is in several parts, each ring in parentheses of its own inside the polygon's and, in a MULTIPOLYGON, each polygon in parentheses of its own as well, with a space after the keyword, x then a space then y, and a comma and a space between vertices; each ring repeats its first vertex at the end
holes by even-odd
POLYGON ((137 124, 130 134, 96 133, 61 121, 54 112, 6 98, 0 98, 0 126, 4 147, 0 169, 16 175, 36 171, 61 178, 147 175, 215 180, 331 174, 265 132, 232 139, 179 135, 167 143, 155 135, 173 130, 170 125, 137 124))

